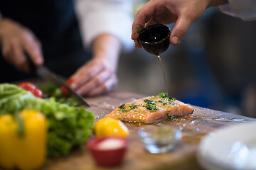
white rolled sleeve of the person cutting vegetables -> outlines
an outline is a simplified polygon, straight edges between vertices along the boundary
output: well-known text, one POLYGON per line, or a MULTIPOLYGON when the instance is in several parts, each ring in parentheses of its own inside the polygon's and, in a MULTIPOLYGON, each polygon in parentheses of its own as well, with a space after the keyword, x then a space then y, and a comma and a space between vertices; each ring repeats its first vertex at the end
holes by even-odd
POLYGON ((85 47, 89 48, 98 35, 114 35, 122 50, 132 50, 132 0, 74 0, 75 11, 85 47))

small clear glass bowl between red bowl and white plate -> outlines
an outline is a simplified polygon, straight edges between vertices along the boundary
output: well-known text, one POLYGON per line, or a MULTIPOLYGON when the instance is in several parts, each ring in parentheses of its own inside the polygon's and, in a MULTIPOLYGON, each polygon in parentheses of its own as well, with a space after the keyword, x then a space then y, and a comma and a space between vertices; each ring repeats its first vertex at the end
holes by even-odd
POLYGON ((170 126, 148 126, 138 131, 145 148, 151 154, 161 154, 171 151, 176 142, 181 139, 181 130, 170 126))

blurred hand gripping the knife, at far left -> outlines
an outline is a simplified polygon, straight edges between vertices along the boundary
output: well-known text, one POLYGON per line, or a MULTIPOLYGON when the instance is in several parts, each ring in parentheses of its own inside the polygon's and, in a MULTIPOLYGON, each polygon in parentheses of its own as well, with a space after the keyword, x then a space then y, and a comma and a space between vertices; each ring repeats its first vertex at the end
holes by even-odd
POLYGON ((26 55, 31 58, 34 64, 43 64, 39 40, 31 30, 11 19, 0 18, 0 43, 4 59, 18 70, 27 73, 30 71, 26 55))

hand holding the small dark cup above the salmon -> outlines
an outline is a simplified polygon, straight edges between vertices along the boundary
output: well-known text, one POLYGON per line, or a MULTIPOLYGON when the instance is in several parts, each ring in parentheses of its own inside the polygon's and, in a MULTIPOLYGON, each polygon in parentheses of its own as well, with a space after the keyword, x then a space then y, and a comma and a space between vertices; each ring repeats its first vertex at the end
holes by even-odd
POLYGON ((138 11, 134 19, 132 39, 135 40, 135 47, 142 47, 137 41, 137 26, 143 29, 156 23, 175 23, 169 41, 177 45, 191 23, 200 18, 206 8, 221 4, 228 4, 228 0, 151 0, 138 11))

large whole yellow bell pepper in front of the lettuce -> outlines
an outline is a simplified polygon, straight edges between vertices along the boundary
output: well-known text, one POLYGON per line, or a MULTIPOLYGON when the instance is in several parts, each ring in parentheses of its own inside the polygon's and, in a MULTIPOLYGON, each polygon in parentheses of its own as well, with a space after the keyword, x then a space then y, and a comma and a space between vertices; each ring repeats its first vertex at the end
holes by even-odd
POLYGON ((37 169, 46 161, 46 118, 33 110, 19 114, 23 135, 13 115, 0 116, 0 166, 6 169, 37 169))

